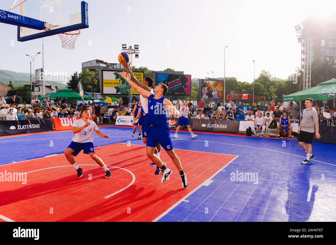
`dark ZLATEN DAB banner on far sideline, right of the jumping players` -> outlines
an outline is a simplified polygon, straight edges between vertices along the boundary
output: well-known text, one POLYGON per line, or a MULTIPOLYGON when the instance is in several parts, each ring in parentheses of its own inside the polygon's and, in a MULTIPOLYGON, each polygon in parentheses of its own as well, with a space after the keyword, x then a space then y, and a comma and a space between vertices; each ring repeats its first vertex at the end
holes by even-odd
POLYGON ((239 133, 240 121, 212 120, 212 119, 192 119, 192 130, 239 133))

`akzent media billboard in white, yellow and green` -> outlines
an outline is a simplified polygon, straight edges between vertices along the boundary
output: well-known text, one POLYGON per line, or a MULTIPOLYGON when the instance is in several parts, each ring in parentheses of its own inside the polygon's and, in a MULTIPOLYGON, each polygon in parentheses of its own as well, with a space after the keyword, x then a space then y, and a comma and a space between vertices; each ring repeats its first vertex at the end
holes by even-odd
MULTIPOLYGON (((129 84, 125 79, 118 75, 120 71, 101 70, 101 94, 104 95, 128 95, 129 84)), ((142 82, 143 72, 133 72, 134 77, 142 82)), ((133 94, 139 94, 134 88, 132 88, 133 94)))

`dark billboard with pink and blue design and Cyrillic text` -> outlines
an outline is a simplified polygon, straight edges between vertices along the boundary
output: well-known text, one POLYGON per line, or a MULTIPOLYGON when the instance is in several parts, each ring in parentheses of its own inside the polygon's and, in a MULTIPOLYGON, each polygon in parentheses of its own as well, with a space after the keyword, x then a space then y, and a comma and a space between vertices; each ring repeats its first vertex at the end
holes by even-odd
POLYGON ((156 85, 164 83, 168 86, 167 95, 191 95, 191 75, 156 74, 156 85))

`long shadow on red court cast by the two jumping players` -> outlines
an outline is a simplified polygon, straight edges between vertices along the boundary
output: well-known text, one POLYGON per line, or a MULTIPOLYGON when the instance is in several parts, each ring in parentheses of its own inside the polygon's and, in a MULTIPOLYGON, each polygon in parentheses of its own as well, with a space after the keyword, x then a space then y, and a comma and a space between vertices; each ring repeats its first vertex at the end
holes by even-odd
MULTIPOLYGON (((157 202, 163 201, 163 203, 166 203, 165 201, 169 199, 171 195, 183 191, 183 189, 180 188, 177 190, 167 191, 165 194, 159 194, 156 193, 156 190, 152 190, 148 193, 140 195, 143 190, 143 186, 137 188, 137 185, 131 185, 128 189, 107 198, 106 201, 100 202, 97 205, 89 207, 85 210, 81 210, 78 213, 70 215, 64 219, 57 220, 57 222, 84 222, 103 215, 107 217, 107 214, 111 213, 113 210, 115 210, 115 213, 110 214, 109 218, 104 221, 131 221, 150 207, 154 206, 157 202), (126 191, 127 194, 125 193, 126 191), (154 200, 147 201, 147 199, 152 197, 154 194, 157 194, 159 197, 154 200), (128 208, 130 209, 130 213, 127 212, 128 208), (125 218, 127 218, 127 220, 125 220, 125 218)), ((169 207, 172 205, 173 204, 168 204, 169 207)), ((167 209, 169 208, 168 206, 167 209)), ((153 210, 153 212, 155 212, 155 210, 153 210)))

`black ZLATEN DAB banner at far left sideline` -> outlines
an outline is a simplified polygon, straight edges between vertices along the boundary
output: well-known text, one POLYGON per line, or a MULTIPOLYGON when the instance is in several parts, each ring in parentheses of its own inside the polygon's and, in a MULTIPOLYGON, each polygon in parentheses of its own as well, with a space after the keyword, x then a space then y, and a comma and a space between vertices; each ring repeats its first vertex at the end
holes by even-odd
POLYGON ((33 119, 0 121, 0 136, 52 131, 51 120, 33 119))

